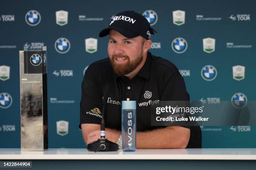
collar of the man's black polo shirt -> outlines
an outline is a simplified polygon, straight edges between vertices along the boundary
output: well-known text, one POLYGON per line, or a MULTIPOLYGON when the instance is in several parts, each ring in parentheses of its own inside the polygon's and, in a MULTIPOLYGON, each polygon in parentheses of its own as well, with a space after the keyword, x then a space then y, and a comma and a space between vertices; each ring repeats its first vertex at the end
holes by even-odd
MULTIPOLYGON (((151 63, 152 63, 152 56, 151 56, 151 53, 148 52, 146 61, 144 65, 141 67, 141 70, 139 70, 139 72, 136 74, 136 76, 149 80, 151 63)), ((115 72, 114 72, 114 76, 115 76, 115 79, 118 79, 118 77, 121 77, 121 76, 118 76, 115 72)))

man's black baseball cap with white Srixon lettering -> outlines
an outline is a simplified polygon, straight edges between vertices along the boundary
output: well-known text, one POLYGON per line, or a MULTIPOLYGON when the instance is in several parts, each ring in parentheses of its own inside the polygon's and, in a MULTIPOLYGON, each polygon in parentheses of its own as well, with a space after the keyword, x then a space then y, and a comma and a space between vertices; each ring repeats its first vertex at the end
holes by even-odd
MULTIPOLYGON (((102 30, 100 37, 105 37, 110 30, 116 30, 125 37, 133 38, 141 35, 150 40, 151 34, 156 32, 150 27, 148 20, 143 15, 134 11, 123 11, 116 14, 111 20, 109 27, 102 30)), ((156 32, 157 33, 157 32, 156 32)))

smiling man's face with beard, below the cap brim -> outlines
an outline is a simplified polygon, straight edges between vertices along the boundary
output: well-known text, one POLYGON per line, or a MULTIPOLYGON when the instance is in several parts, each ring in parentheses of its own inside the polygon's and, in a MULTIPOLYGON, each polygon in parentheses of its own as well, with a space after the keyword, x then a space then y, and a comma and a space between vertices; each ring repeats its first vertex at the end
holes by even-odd
POLYGON ((116 74, 127 75, 142 62, 144 40, 141 36, 127 38, 115 30, 110 30, 108 55, 116 74))

